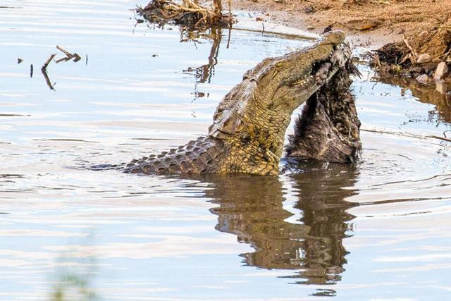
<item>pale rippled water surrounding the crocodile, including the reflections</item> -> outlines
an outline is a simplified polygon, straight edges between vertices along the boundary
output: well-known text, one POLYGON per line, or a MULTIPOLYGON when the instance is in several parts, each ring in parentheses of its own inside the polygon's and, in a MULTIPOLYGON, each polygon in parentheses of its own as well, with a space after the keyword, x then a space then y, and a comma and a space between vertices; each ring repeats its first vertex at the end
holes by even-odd
POLYGON ((226 30, 186 39, 136 25, 135 4, 0 1, 1 300, 447 299, 450 106, 363 66, 354 166, 195 178, 80 169, 206 133, 245 70, 311 43, 243 30, 228 48, 226 30), (56 44, 82 59, 51 62, 46 82, 56 44))

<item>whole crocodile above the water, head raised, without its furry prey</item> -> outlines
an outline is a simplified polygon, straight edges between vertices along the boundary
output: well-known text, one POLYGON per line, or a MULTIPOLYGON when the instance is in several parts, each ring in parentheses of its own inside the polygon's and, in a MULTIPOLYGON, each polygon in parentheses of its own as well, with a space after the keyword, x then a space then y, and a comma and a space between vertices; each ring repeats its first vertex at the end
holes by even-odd
POLYGON ((321 98, 317 91, 346 68, 350 56, 345 33, 332 31, 311 47, 264 59, 222 99, 208 135, 119 167, 160 175, 276 175, 293 111, 315 94, 321 98))

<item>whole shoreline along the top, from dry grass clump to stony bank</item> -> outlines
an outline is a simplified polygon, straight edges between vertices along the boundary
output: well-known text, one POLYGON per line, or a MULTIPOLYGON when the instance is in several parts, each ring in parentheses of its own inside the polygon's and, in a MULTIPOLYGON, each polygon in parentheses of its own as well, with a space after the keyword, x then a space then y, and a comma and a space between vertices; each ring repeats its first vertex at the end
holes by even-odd
POLYGON ((229 13, 233 9, 240 16, 215 15, 195 1, 154 0, 137 12, 160 25, 172 20, 199 29, 231 28, 235 18, 236 29, 252 27, 307 39, 342 30, 351 47, 359 49, 357 55, 379 76, 410 78, 429 86, 436 83, 436 89, 451 98, 450 0, 229 0, 228 4, 229 13))

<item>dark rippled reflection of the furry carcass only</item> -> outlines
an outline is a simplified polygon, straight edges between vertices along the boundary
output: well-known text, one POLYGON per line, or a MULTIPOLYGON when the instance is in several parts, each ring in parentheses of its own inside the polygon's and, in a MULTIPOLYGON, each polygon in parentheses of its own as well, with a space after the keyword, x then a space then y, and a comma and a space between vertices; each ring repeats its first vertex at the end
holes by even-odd
POLYGON ((304 173, 293 176, 299 191, 294 207, 302 211, 300 221, 308 227, 303 265, 307 270, 299 275, 307 281, 298 283, 340 281, 347 254, 342 239, 347 237, 347 222, 354 219, 346 210, 357 205, 345 201, 354 191, 342 188, 354 185, 357 170, 346 164, 320 162, 306 162, 303 169, 304 173))

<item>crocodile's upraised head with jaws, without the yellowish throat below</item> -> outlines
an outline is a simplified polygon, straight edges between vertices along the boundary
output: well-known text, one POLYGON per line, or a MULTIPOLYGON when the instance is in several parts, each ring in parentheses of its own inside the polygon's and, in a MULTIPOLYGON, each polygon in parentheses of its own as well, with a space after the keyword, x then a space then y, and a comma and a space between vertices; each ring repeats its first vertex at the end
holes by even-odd
POLYGON ((299 105, 323 85, 324 80, 335 74, 339 65, 344 65, 335 56, 347 56, 349 59, 349 47, 349 51, 345 49, 346 54, 335 54, 337 47, 344 42, 343 32, 329 32, 321 42, 312 47, 264 59, 248 70, 242 82, 226 94, 218 105, 213 124, 209 128, 209 136, 233 135, 242 130, 242 123, 254 123, 257 128, 265 128, 268 125, 267 116, 271 115, 272 121, 291 116, 299 105), (316 68, 329 61, 330 68, 321 68, 318 73, 316 68), (326 78, 323 78, 324 74, 326 78), (248 116, 255 113, 256 107, 266 118, 249 120, 248 116))

